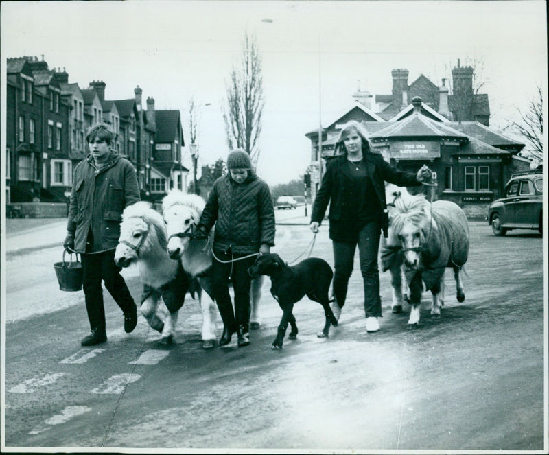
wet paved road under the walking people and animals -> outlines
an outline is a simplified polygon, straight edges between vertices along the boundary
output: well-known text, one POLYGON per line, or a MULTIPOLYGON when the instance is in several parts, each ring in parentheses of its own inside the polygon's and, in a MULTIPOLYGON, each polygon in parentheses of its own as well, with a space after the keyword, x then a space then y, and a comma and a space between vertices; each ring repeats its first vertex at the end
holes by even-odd
MULTIPOLYGON (((280 224, 277 252, 292 261, 310 239, 307 226, 280 224)), ((56 289, 58 247, 8 252, 5 445, 542 450, 541 246, 528 231, 500 238, 471 223, 465 302, 448 271, 441 319, 430 318, 424 294, 416 331, 406 330, 407 314, 390 314, 382 274, 382 330, 366 334, 355 264, 340 327, 316 338, 322 310, 304 299, 298 340, 282 351, 270 349, 281 310, 268 282, 249 347, 204 351, 191 299, 174 345, 161 345, 142 317, 124 334, 108 296, 108 342, 81 349, 83 296, 56 289)), ((332 263, 325 227, 313 255, 332 263)), ((137 298, 139 279, 125 274, 137 298)))

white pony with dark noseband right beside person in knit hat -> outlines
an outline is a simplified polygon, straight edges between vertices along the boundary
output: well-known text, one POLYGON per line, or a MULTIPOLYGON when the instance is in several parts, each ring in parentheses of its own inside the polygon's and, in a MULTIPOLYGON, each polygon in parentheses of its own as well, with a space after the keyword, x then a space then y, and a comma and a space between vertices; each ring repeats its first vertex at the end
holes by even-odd
MULTIPOLYGON (((167 252, 172 259, 180 259, 183 268, 213 298, 209 277, 200 274, 211 267, 213 229, 207 239, 194 236, 200 215, 206 205, 205 200, 196 194, 185 194, 172 190, 162 200, 162 213, 167 230, 167 252)), ((250 329, 259 329, 259 300, 264 276, 252 280, 250 288, 250 329)), ((214 305, 215 306, 215 305, 214 305)))

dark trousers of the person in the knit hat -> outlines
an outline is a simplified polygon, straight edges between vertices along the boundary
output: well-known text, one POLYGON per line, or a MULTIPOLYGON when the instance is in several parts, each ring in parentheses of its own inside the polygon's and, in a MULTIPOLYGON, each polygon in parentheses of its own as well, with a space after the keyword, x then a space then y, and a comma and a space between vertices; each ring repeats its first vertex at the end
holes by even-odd
MULTIPOLYGON (((215 250, 215 256, 222 261, 230 261, 247 255, 231 254, 215 250)), ((213 258, 211 266, 211 281, 215 303, 223 320, 223 325, 231 331, 236 331, 240 325, 244 326, 244 332, 250 325, 250 287, 252 279, 248 274, 248 268, 253 265, 256 257, 248 257, 235 261, 232 264, 223 264, 213 258), (235 311, 229 294, 229 277, 233 282, 235 291, 235 311)))

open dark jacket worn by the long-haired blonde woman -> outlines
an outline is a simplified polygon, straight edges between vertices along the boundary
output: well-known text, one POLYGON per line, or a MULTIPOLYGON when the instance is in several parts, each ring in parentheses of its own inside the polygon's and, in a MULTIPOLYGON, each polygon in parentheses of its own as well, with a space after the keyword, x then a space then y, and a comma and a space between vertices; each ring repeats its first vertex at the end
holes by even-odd
MULTIPOLYGON (((388 217, 386 216, 385 182, 399 187, 419 186, 421 183, 417 181, 416 174, 399 170, 387 163, 380 154, 366 153, 363 161, 375 189, 372 197, 379 200, 379 207, 382 210, 379 213, 379 222, 386 236, 388 217)), ((353 176, 347 164, 346 154, 336 156, 327 162, 326 172, 314 200, 311 222, 322 222, 328 203, 331 240, 344 241, 353 237, 354 233, 345 232, 344 226, 348 226, 347 229, 350 230, 354 225, 359 201, 358 194, 354 191, 353 176), (332 229, 334 224, 338 225, 337 229, 332 229)))

